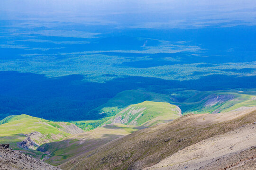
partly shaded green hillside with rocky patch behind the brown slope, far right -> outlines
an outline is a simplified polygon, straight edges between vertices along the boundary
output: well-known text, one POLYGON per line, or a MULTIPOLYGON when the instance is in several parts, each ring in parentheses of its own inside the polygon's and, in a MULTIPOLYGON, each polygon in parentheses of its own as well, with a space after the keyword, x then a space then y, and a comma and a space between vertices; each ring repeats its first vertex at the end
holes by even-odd
MULTIPOLYGON (((241 91, 206 91, 178 92, 179 95, 190 96, 183 102, 171 102, 182 110, 183 115, 189 113, 219 113, 237 109, 239 107, 251 107, 256 105, 256 95, 245 94, 241 91), (190 93, 188 93, 190 92, 190 93), (193 94, 193 95, 191 95, 193 94)), ((175 96, 176 93, 173 94, 175 96)))

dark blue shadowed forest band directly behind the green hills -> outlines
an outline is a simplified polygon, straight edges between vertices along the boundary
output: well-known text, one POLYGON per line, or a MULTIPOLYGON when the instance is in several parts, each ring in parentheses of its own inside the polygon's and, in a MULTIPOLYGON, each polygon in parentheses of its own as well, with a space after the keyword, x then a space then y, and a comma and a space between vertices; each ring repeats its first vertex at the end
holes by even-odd
POLYGON ((256 76, 211 75, 197 80, 173 81, 126 76, 95 83, 84 80, 82 75, 48 78, 32 73, 0 72, 0 119, 24 113, 56 121, 96 120, 112 116, 99 114, 99 110, 94 109, 124 90, 144 89, 170 95, 186 89, 251 88, 256 87, 255 79, 256 76))

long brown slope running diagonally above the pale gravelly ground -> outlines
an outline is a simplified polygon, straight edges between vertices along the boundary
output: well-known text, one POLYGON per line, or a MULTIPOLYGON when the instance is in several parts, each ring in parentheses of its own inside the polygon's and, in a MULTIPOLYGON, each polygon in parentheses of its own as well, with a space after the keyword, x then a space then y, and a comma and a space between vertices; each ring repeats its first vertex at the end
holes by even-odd
POLYGON ((256 109, 220 114, 189 114, 148 127, 68 161, 64 170, 139 170, 212 136, 256 122, 256 109))

